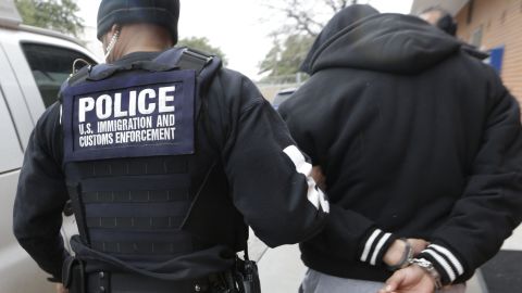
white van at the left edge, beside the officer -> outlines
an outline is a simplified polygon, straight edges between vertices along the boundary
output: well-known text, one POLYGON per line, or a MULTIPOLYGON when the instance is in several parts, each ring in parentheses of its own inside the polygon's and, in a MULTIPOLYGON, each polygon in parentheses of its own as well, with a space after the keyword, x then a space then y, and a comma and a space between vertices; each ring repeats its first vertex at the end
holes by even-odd
MULTIPOLYGON (((57 101, 76 59, 97 60, 73 38, 22 25, 13 1, 0 0, 1 293, 55 292, 46 281, 48 276, 14 239, 12 209, 29 135, 46 107, 57 101)), ((66 221, 73 226, 72 218, 66 221)), ((65 229, 62 233, 67 234, 65 229)))

